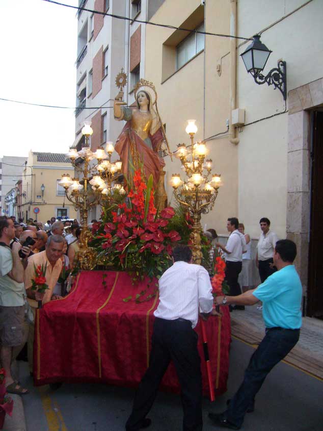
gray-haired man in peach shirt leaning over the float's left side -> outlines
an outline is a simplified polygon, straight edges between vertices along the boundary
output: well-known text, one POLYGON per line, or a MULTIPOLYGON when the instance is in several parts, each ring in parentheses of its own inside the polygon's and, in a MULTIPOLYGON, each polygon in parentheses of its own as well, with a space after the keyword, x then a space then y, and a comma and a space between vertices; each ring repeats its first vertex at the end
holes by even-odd
MULTIPOLYGON (((54 223, 55 224, 55 223, 54 223)), ((63 223, 62 223, 63 224, 63 223)), ((35 312, 38 308, 38 302, 49 302, 52 299, 58 299, 59 296, 53 294, 53 289, 58 282, 61 270, 63 256, 64 238, 61 235, 51 235, 47 239, 45 251, 40 251, 28 259, 28 265, 24 271, 24 286, 28 296, 28 301, 35 312), (46 265, 45 284, 48 286, 45 293, 32 290, 33 280, 35 279, 35 266, 46 265)), ((28 361, 30 372, 33 372, 33 346, 34 346, 34 323, 31 323, 28 338, 28 361)))

